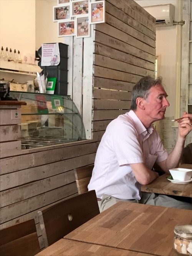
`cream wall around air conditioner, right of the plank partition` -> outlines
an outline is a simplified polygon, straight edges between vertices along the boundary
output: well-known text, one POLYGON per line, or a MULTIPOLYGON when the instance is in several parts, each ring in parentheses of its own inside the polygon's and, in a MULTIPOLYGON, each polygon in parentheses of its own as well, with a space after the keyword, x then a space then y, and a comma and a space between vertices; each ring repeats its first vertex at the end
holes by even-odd
MULTIPOLYGON (((177 0, 135 0, 142 7, 171 3, 175 6, 177 21, 177 0)), ((169 108, 166 117, 175 115, 176 88, 176 26, 156 28, 156 55, 161 55, 160 74, 167 91, 169 108)))

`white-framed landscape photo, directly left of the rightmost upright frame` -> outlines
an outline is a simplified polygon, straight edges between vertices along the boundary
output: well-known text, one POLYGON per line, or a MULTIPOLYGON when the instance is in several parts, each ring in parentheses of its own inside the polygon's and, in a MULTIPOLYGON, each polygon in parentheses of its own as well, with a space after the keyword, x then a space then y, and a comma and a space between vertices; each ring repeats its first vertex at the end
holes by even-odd
POLYGON ((84 1, 73 1, 71 16, 75 17, 76 15, 88 15, 89 13, 89 0, 84 1))

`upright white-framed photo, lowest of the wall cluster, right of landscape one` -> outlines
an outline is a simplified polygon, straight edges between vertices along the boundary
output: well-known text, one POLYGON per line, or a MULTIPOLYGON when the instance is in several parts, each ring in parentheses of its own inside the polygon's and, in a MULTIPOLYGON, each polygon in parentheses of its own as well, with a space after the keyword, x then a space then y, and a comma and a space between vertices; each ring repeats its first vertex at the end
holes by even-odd
POLYGON ((76 38, 90 37, 89 17, 76 17, 76 38))

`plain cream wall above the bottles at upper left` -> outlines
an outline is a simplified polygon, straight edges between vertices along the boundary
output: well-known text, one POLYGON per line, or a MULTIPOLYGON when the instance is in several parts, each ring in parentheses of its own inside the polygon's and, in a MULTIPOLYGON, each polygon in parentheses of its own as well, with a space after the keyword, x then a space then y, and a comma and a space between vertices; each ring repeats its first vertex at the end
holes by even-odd
POLYGON ((64 42, 57 36, 53 6, 57 0, 0 0, 0 48, 35 55, 42 43, 64 42))

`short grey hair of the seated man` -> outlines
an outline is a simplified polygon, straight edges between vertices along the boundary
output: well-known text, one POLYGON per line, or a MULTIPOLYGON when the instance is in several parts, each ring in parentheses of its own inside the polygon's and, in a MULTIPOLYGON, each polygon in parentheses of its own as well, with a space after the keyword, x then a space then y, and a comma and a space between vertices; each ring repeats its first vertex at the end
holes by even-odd
POLYGON ((156 79, 152 78, 151 76, 142 77, 132 88, 130 110, 136 110, 137 98, 144 98, 144 100, 146 100, 147 97, 149 96, 149 93, 150 93, 149 90, 151 89, 151 87, 157 86, 157 85, 162 85, 161 76, 157 77, 156 79))

